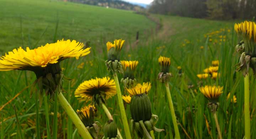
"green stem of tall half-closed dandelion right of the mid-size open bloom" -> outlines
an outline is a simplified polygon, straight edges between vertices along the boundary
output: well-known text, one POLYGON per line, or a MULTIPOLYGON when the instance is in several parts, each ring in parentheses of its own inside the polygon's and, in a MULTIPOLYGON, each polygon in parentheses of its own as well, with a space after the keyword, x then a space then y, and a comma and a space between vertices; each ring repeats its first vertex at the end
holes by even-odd
POLYGON ((130 135, 130 129, 129 129, 129 126, 128 126, 126 113, 125 113, 125 110, 124 110, 123 99, 122 99, 122 94, 121 94, 121 89, 120 89, 117 73, 114 72, 113 76, 114 76, 114 81, 116 83, 118 104, 119 104, 119 108, 120 108, 120 111, 121 111, 121 117, 122 117, 122 121, 123 121, 124 132, 126 134, 126 139, 132 139, 132 137, 130 135))

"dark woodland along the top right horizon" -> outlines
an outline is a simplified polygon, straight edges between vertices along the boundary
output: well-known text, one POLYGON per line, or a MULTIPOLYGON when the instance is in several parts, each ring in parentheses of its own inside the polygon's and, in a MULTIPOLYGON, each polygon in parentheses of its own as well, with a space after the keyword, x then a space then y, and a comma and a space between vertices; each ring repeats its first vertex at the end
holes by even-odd
POLYGON ((210 19, 251 19, 256 0, 154 0, 150 12, 210 19))

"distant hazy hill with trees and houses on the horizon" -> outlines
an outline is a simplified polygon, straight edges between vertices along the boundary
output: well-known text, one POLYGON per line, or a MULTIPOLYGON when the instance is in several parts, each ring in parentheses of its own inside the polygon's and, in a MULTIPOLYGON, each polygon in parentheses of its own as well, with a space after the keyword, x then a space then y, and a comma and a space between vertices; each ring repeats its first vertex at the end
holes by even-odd
POLYGON ((64 1, 78 2, 82 4, 111 7, 111 8, 118 8, 118 9, 124 9, 124 10, 140 11, 144 9, 143 7, 136 6, 121 0, 64 0, 64 1))

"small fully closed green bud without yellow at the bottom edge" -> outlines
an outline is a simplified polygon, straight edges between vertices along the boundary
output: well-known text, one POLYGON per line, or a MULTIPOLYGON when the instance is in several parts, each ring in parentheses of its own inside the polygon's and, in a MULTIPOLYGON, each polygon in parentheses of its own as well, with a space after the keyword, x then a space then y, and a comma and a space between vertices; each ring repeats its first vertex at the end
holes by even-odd
POLYGON ((119 139, 117 135, 117 125, 113 120, 109 120, 104 126, 104 138, 119 139))

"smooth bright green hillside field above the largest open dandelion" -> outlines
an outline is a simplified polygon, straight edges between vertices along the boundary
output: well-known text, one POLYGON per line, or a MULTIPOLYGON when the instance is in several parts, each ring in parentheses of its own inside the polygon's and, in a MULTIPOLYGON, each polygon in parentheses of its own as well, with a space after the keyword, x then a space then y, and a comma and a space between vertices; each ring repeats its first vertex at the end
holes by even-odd
POLYGON ((132 11, 56 0, 2 0, 0 8, 1 51, 62 38, 94 46, 116 37, 135 41, 137 31, 143 38, 146 29, 154 28, 154 23, 132 11))

